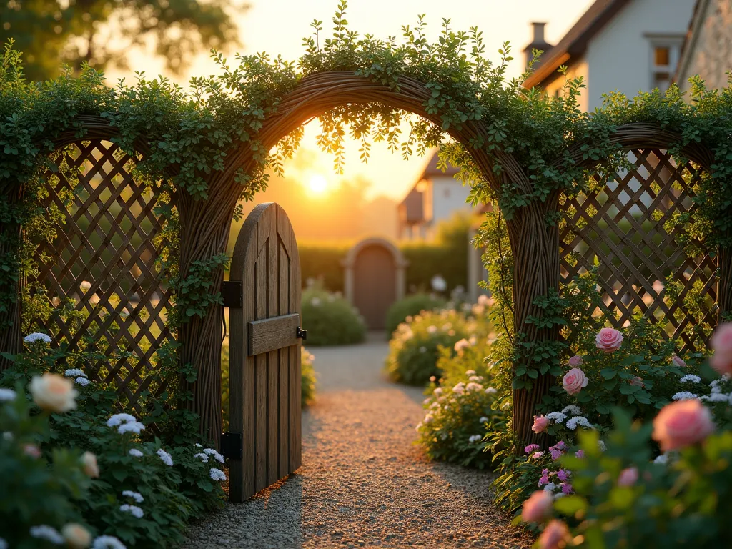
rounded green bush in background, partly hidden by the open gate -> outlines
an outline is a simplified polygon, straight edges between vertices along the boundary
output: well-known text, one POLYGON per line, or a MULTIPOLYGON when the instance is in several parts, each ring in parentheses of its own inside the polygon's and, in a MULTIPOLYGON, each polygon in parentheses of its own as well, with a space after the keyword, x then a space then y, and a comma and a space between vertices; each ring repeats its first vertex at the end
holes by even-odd
POLYGON ((351 345, 366 337, 366 324, 356 309, 322 288, 302 292, 302 326, 308 346, 351 345))

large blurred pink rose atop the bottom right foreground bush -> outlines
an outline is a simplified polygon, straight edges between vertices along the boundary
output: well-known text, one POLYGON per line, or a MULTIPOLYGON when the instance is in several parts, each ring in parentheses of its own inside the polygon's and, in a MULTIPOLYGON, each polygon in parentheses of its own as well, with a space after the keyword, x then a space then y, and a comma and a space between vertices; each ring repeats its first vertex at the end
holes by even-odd
POLYGON ((653 438, 663 452, 703 441, 713 430, 709 408, 697 399, 667 404, 653 420, 653 438))

